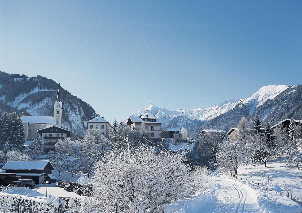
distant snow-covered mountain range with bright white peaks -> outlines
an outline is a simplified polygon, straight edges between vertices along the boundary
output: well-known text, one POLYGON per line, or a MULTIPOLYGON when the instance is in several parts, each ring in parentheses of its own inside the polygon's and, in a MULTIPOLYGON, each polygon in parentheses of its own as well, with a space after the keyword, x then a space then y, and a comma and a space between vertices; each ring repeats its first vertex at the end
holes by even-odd
POLYGON ((165 122, 164 126, 169 126, 170 121, 178 116, 186 116, 190 120, 208 121, 242 105, 249 108, 249 114, 252 114, 257 107, 263 105, 269 99, 274 99, 277 95, 288 88, 289 87, 286 85, 263 86, 248 98, 227 99, 219 105, 215 104, 205 109, 196 107, 191 110, 177 109, 173 111, 166 108, 159 108, 154 104, 149 103, 145 108, 134 113, 132 116, 144 116, 148 114, 149 117, 161 118, 165 122))

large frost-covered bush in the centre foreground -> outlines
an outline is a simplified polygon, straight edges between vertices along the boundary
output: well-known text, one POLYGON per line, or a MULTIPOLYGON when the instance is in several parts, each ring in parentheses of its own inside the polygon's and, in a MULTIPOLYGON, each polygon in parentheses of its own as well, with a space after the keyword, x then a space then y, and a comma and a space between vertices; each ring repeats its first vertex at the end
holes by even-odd
POLYGON ((186 152, 155 153, 155 147, 126 144, 107 150, 96 162, 91 181, 95 211, 164 212, 165 205, 206 188, 208 169, 192 171, 186 152))

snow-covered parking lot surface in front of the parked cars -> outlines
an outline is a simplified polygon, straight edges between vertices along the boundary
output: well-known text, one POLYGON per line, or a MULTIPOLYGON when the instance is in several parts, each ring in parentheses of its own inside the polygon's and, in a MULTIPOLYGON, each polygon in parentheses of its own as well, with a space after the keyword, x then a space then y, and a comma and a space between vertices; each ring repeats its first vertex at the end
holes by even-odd
MULTIPOLYGON (((46 184, 36 185, 32 189, 36 189, 37 192, 46 194, 46 184)), ((47 194, 53 195, 55 197, 71 197, 71 198, 82 198, 82 199, 85 198, 85 196, 78 195, 75 192, 66 192, 66 190, 64 190, 64 188, 60 188, 60 187, 56 186, 55 183, 48 184, 47 194)))

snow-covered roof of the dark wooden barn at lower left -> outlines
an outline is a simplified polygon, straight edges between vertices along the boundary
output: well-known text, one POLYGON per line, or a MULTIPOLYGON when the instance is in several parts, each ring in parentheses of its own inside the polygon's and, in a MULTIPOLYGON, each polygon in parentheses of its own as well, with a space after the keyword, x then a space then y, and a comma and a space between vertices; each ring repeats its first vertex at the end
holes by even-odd
POLYGON ((50 161, 49 160, 9 160, 2 167, 2 169, 41 170, 45 168, 47 163, 50 163, 50 161))

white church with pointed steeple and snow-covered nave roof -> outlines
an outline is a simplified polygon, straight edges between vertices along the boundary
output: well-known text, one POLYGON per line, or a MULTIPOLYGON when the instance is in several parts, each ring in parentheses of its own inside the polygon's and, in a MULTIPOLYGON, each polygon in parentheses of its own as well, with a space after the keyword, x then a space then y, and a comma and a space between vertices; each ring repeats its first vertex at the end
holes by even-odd
POLYGON ((60 97, 60 86, 54 102, 54 116, 35 116, 23 115, 22 121, 24 126, 25 141, 32 140, 39 136, 38 130, 48 126, 62 127, 62 110, 63 103, 60 97))

